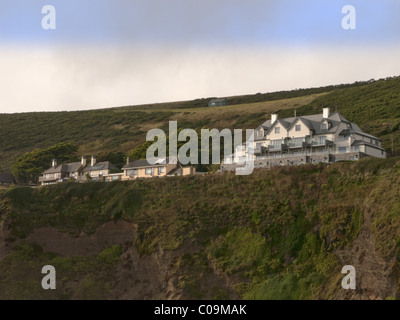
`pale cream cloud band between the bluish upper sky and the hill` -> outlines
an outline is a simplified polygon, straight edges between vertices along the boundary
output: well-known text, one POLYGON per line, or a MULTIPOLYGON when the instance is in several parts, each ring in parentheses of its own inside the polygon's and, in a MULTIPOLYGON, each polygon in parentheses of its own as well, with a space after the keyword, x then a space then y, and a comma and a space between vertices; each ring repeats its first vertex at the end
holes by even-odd
POLYGON ((0 112, 82 110, 377 79, 400 74, 399 54, 400 47, 0 48, 0 112))

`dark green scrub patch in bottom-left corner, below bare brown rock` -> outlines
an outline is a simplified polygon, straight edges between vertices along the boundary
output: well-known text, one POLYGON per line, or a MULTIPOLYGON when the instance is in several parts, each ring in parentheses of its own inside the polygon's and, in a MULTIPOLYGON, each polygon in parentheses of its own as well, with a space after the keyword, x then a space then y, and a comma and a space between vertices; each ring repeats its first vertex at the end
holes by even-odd
POLYGON ((0 262, 0 299, 107 299, 113 293, 113 272, 120 254, 120 246, 112 246, 98 255, 62 257, 23 242, 0 262), (58 274, 57 290, 41 287, 44 275, 40 271, 47 264, 58 274))

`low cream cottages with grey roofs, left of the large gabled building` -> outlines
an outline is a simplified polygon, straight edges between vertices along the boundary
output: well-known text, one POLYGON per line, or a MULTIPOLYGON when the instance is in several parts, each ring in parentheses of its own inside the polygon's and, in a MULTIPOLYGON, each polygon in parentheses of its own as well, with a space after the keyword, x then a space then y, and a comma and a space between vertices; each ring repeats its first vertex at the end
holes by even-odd
POLYGON ((55 184, 64 181, 88 182, 88 181, 126 181, 138 178, 152 178, 164 176, 185 176, 195 174, 194 167, 182 167, 173 158, 158 159, 155 164, 147 160, 130 162, 127 158, 122 172, 109 161, 96 162, 92 156, 90 165, 86 164, 85 157, 80 162, 57 164, 54 159, 51 168, 42 173, 39 178, 41 185, 55 184))

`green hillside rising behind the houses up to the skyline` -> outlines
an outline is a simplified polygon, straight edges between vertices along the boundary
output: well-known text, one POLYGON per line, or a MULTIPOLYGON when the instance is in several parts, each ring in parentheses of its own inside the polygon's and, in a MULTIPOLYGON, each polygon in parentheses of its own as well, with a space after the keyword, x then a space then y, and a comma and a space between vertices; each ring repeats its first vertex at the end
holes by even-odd
POLYGON ((152 128, 256 128, 271 113, 282 117, 337 108, 348 120, 383 139, 383 146, 400 145, 400 77, 348 85, 228 97, 226 107, 208 108, 208 99, 73 112, 0 114, 0 172, 25 152, 70 141, 79 154, 129 152, 145 141, 152 128))

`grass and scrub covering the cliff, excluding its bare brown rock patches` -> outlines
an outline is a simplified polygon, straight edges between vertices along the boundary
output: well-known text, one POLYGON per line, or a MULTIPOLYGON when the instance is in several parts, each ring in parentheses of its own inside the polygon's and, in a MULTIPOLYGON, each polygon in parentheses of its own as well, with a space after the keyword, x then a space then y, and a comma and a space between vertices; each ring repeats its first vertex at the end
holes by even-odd
MULTIPOLYGON (((181 286, 189 297, 203 296, 199 288, 213 272, 211 264, 236 279, 232 291, 246 299, 332 298, 340 286, 335 250, 351 248, 367 211, 377 250, 386 261, 399 261, 399 178, 400 159, 391 158, 276 168, 250 176, 15 188, 3 191, 0 218, 10 223, 11 241, 49 225, 74 235, 90 233, 112 219, 138 225, 135 246, 141 254, 195 241, 200 252, 178 261, 181 286)), ((107 275, 119 250, 88 258, 57 257, 23 245, 0 262, 0 298, 36 294, 34 274, 38 278, 44 262, 56 264, 63 281, 83 275, 75 281, 85 291, 63 288, 57 294, 41 291, 38 297, 105 298, 115 289, 107 275), (108 263, 101 262, 104 255, 108 263), (25 281, 15 281, 21 275, 25 281)), ((397 262, 393 270, 397 274, 397 262)), ((232 294, 215 289, 216 298, 232 294)))

